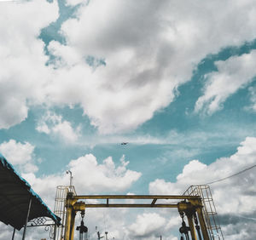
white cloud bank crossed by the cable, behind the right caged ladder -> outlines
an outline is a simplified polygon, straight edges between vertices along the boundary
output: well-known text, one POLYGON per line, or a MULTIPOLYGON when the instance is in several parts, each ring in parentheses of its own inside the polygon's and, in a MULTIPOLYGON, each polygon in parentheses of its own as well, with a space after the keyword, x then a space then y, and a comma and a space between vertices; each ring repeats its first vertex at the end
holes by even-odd
MULTIPOLYGON (((255 146, 256 138, 247 137, 241 142, 236 153, 230 157, 219 158, 208 166, 193 160, 184 167, 182 174, 177 175, 175 183, 166 182, 166 180, 154 180, 149 184, 149 192, 151 194, 182 194, 188 186, 206 184, 235 174, 256 163, 255 146)), ((247 219, 253 217, 256 208, 254 175, 255 169, 251 169, 247 173, 212 184, 212 197, 222 222, 227 214, 236 217, 237 215, 244 215, 247 216, 247 219)), ((227 222, 223 222, 223 224, 226 225, 227 222)), ((252 224, 254 226, 254 223, 252 224)), ((234 231, 229 232, 228 229, 231 226, 224 226, 225 239, 240 239, 239 236, 244 236, 244 239, 251 239, 252 236, 248 237, 242 233, 243 226, 246 226, 246 223, 241 223, 241 226, 236 229, 236 234, 234 231)))

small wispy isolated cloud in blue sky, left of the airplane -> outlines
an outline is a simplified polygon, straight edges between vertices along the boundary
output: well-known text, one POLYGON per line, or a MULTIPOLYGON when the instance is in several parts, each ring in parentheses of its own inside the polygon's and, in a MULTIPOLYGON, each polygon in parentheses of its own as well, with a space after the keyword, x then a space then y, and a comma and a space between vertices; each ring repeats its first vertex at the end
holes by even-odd
POLYGON ((47 111, 46 114, 38 121, 36 129, 38 132, 44 134, 57 135, 61 140, 67 141, 68 143, 77 141, 80 135, 80 126, 73 129, 70 122, 62 120, 61 115, 56 115, 51 111, 47 111))

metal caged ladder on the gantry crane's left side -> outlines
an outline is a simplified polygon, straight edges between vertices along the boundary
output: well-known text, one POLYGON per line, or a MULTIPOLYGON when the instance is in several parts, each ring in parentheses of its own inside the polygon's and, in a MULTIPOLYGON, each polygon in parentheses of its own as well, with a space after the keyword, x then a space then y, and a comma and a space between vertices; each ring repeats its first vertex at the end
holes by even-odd
POLYGON ((54 213, 59 216, 62 220, 61 226, 56 227, 55 230, 55 240, 64 239, 64 231, 66 226, 66 215, 67 210, 65 208, 67 192, 73 192, 73 196, 76 196, 77 193, 75 191, 74 186, 57 186, 56 195, 55 195, 55 209, 54 213))

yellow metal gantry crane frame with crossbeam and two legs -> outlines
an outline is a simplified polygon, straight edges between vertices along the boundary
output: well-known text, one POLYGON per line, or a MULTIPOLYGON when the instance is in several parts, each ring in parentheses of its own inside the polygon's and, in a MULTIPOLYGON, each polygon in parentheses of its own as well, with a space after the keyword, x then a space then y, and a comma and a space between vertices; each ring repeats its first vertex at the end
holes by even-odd
POLYGON ((72 191, 67 192, 66 199, 66 226, 65 240, 73 240, 75 216, 78 211, 84 213, 89 208, 176 208, 182 219, 187 217, 189 226, 180 228, 180 232, 191 236, 192 240, 210 240, 206 221, 202 212, 203 205, 199 196, 184 195, 79 195, 75 196, 72 191), (79 200, 95 199, 104 200, 104 203, 84 203, 79 200), (141 199, 151 200, 151 203, 113 203, 114 199, 141 199), (161 203, 156 203, 159 200, 161 203), (160 200, 178 200, 178 203, 166 203, 160 200), (110 203, 111 202, 111 203, 110 203), (198 221, 198 220, 199 221, 198 221))

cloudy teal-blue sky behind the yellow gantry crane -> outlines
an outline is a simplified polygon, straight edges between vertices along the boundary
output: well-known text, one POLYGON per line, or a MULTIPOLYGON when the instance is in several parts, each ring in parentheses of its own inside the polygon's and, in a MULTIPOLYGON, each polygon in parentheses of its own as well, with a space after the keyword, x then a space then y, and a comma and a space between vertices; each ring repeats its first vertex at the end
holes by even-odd
MULTIPOLYGON (((67 170, 79 195, 174 195, 255 165, 253 0, 0 1, 0 32, 0 152, 51 209, 67 170)), ((211 185, 225 239, 256 238, 255 169, 211 185)), ((85 225, 177 240, 181 219, 90 209, 85 225)))

